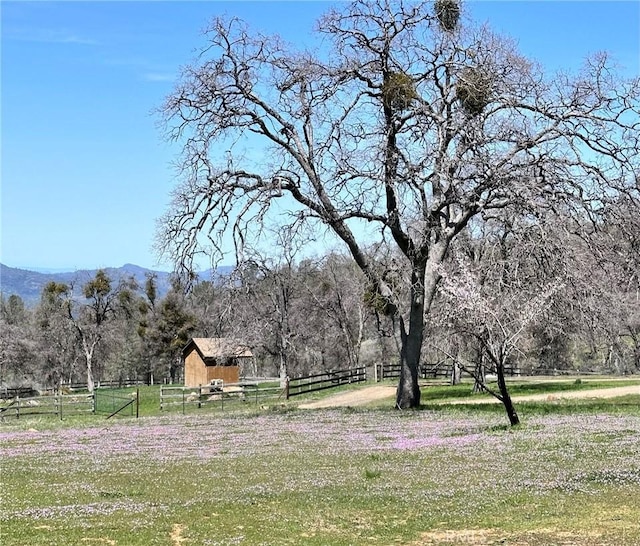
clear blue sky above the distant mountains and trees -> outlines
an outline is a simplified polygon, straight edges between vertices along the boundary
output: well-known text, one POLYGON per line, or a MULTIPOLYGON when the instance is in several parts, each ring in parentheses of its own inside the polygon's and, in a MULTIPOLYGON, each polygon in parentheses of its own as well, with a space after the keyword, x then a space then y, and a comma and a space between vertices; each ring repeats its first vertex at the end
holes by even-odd
MULTIPOLYGON (((233 14, 294 43, 328 2, 3 1, 0 261, 11 267, 158 266, 156 219, 177 148, 153 113, 202 28, 233 14)), ((475 1, 478 21, 550 70, 607 50, 640 73, 638 1, 475 1)))

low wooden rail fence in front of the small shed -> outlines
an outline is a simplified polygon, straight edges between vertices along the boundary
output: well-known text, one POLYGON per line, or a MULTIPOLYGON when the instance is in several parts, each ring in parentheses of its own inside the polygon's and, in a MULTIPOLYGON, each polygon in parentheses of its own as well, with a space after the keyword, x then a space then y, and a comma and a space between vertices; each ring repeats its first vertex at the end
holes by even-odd
POLYGON ((178 409, 185 413, 190 408, 209 407, 224 410, 239 405, 258 406, 282 400, 284 394, 284 389, 277 382, 223 383, 219 381, 199 387, 161 385, 160 410, 178 409))

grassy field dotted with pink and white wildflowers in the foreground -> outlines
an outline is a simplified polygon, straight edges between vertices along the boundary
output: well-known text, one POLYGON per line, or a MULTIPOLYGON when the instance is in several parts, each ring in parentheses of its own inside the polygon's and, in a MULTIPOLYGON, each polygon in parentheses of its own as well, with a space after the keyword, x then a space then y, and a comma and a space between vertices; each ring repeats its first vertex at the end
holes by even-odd
POLYGON ((640 544, 640 396, 518 409, 5 422, 0 543, 640 544))

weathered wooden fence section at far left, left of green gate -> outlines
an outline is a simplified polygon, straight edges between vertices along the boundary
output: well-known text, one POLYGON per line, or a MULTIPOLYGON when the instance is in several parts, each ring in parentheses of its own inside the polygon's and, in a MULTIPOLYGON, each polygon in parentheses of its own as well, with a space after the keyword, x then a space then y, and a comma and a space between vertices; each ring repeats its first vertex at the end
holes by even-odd
POLYGON ((16 396, 0 407, 0 419, 20 419, 35 415, 55 415, 62 419, 67 415, 95 412, 93 394, 55 394, 21 398, 16 396))

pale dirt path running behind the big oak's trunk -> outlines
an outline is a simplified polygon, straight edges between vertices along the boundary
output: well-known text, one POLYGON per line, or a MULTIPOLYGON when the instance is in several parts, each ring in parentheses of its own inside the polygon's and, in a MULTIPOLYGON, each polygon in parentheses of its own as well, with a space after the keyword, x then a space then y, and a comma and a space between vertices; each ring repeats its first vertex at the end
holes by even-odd
MULTIPOLYGON (((358 389, 349 392, 329 396, 317 402, 309 402, 298 406, 301 409, 341 408, 347 406, 364 406, 377 400, 392 398, 396 388, 390 385, 377 385, 366 389, 358 389)), ((437 404, 495 404, 499 401, 494 397, 471 397, 449 400, 429 400, 429 391, 424 391, 423 403, 437 404)), ((622 387, 610 387, 606 389, 583 389, 576 391, 564 391, 554 393, 529 394, 514 396, 514 402, 553 401, 561 399, 587 399, 587 398, 615 398, 627 394, 640 394, 640 385, 627 385, 622 387)))

